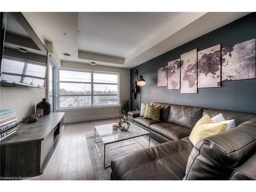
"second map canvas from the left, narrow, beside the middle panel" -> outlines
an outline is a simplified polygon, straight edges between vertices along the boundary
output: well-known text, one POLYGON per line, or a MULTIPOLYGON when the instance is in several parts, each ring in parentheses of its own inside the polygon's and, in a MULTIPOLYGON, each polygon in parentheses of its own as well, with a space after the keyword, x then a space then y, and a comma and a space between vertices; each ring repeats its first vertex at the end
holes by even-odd
POLYGON ((167 89, 180 89, 180 59, 168 62, 167 89))

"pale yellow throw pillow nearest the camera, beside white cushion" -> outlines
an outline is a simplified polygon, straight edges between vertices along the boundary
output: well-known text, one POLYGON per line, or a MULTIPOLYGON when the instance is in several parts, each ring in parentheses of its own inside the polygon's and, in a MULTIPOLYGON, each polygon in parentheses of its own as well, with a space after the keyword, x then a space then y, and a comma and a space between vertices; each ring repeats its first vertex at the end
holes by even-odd
POLYGON ((209 115, 203 116, 194 126, 189 140, 194 145, 203 138, 226 131, 227 123, 214 123, 209 115))

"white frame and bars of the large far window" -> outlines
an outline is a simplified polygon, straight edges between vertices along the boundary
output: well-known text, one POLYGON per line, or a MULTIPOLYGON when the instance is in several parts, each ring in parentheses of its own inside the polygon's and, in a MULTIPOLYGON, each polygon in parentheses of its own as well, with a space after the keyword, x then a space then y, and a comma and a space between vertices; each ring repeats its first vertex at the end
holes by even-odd
POLYGON ((102 71, 93 71, 93 70, 77 70, 77 69, 67 69, 60 68, 58 70, 58 110, 74 110, 74 109, 83 109, 83 108, 108 108, 113 106, 119 106, 119 73, 114 72, 102 72, 102 71), (75 71, 75 72, 85 72, 91 73, 91 82, 80 82, 80 81, 61 81, 60 80, 60 71, 75 71), (98 74, 110 74, 117 75, 117 83, 104 83, 104 82, 94 82, 93 75, 94 73, 98 74), (81 83, 81 84, 91 84, 91 94, 60 94, 60 83, 81 83), (106 85, 117 85, 117 94, 94 94, 94 84, 106 84, 106 85), (62 96, 90 96, 91 97, 91 105, 89 106, 65 106, 60 107, 60 97, 62 96), (108 105, 94 105, 94 96, 117 96, 117 104, 108 104, 108 105))

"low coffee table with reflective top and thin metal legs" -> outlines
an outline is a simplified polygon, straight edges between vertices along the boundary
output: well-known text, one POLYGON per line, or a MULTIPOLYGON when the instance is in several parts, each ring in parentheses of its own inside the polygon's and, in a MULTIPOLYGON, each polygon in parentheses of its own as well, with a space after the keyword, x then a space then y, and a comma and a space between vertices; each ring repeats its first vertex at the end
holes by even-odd
MULTIPOLYGON (((124 141, 127 139, 134 139, 136 137, 147 136, 148 137, 148 146, 150 146, 150 132, 142 129, 141 127, 139 127, 131 122, 130 122, 130 127, 129 127, 128 131, 121 131, 118 128, 116 130, 113 130, 112 124, 113 123, 94 126, 94 143, 97 148, 100 161, 104 168, 110 166, 110 165, 105 166, 106 145, 108 145, 108 144, 119 142, 119 141, 124 141), (100 141, 96 141, 96 132, 100 138, 100 141), (97 143, 101 143, 101 142, 104 145, 103 146, 104 147, 103 157, 101 157, 99 148, 97 146, 97 143)), ((142 146, 138 141, 136 141, 136 142, 140 146, 142 146)), ((145 148, 144 146, 142 146, 142 147, 145 148)))

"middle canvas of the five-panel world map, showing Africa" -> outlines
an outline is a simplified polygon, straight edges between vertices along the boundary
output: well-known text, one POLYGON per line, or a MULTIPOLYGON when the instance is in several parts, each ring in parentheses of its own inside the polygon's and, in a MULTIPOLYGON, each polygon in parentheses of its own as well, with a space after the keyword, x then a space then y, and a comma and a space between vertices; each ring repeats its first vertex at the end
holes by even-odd
POLYGON ((197 93, 197 49, 180 56, 181 93, 197 93))

